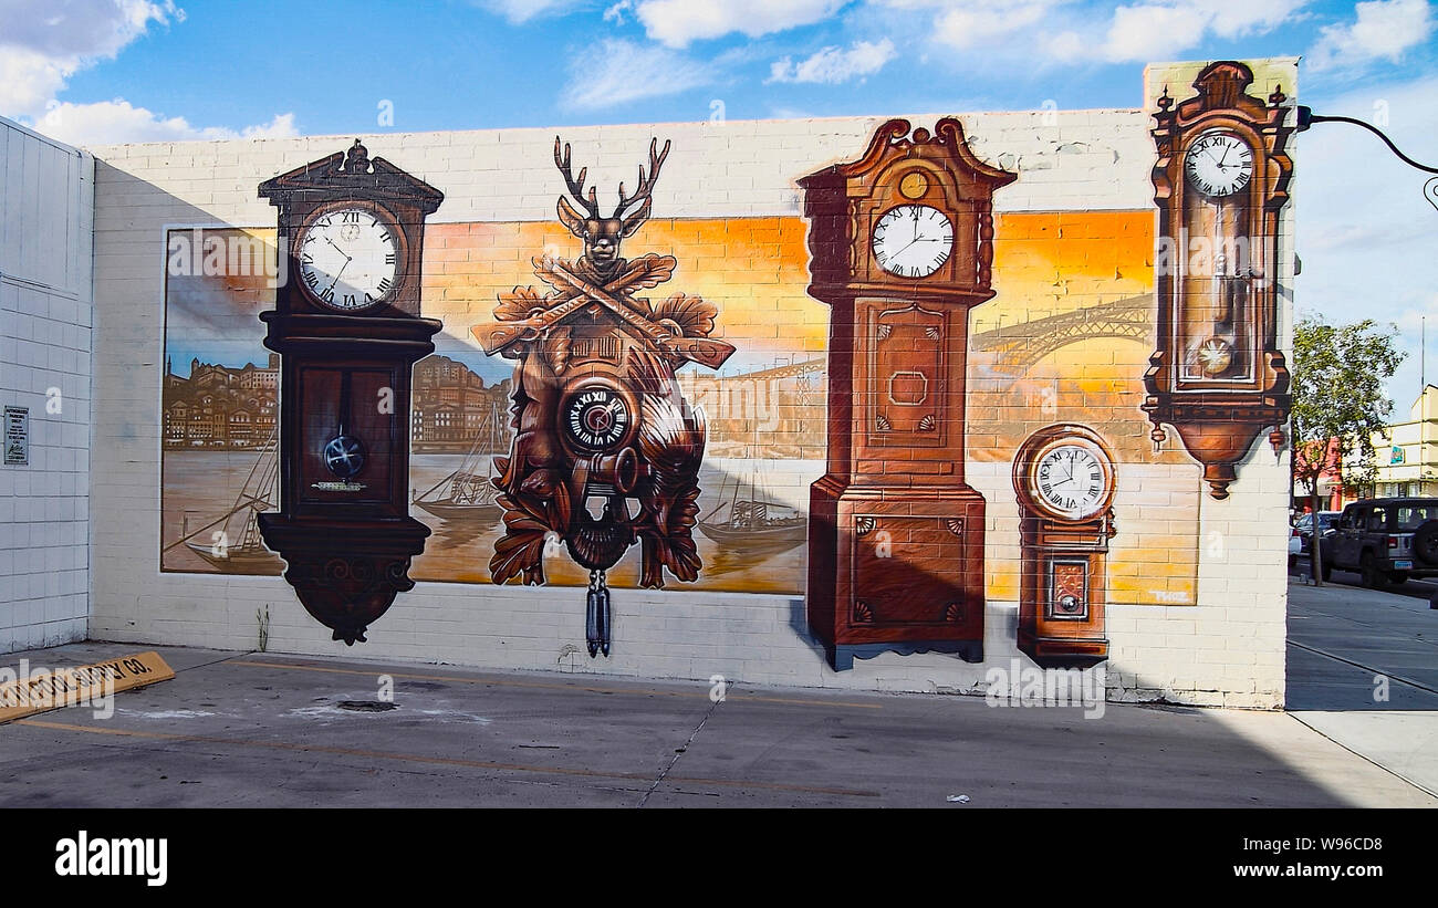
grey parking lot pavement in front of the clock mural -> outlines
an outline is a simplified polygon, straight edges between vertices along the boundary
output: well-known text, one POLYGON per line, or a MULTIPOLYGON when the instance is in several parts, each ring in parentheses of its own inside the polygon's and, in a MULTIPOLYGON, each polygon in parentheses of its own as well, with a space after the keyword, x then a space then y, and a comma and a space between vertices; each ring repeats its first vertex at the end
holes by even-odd
MULTIPOLYGON (((78 665, 75 644, 0 664, 78 665)), ((1291 715, 995 708, 157 648, 177 677, 0 726, 12 806, 1438 806, 1291 715), (374 708, 381 675, 395 708, 374 708), (948 800, 966 796, 966 802, 948 800)))

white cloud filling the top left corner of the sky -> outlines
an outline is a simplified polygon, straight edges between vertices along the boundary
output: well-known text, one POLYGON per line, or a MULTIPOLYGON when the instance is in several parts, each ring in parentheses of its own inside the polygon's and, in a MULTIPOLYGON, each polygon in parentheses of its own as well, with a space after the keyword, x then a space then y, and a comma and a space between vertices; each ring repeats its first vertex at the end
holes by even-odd
POLYGON ((183 20, 170 0, 0 0, 0 114, 39 114, 66 79, 114 59, 150 23, 183 20))

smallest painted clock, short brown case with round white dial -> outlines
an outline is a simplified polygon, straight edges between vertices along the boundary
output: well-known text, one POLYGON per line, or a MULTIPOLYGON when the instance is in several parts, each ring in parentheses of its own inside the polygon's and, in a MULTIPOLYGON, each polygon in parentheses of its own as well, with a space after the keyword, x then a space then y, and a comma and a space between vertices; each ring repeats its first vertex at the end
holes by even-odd
POLYGON ((1022 579, 1018 648, 1044 668, 1109 658, 1103 603, 1114 534, 1113 455, 1093 430, 1050 425, 1014 458, 1022 579))

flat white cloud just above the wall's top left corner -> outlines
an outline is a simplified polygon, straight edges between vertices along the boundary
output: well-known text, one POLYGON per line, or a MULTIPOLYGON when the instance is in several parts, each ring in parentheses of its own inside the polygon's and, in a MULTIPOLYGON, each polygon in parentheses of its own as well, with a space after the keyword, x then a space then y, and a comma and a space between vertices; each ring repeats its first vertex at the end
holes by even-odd
POLYGON ((267 124, 229 129, 193 126, 183 116, 164 116, 128 101, 52 103, 37 116, 35 129, 70 145, 121 145, 125 142, 178 142, 186 139, 282 138, 299 135, 293 114, 278 114, 267 124))

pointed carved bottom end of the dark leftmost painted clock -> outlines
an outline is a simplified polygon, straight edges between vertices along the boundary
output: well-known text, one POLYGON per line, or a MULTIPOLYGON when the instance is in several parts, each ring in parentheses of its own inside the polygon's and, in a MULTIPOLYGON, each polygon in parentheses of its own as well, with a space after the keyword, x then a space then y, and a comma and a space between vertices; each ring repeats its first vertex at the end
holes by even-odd
POLYGON ((414 517, 352 520, 338 530, 279 513, 257 514, 257 523, 265 545, 285 559, 285 579, 305 611, 351 647, 365 642, 398 593, 414 589, 410 560, 430 534, 414 517))

